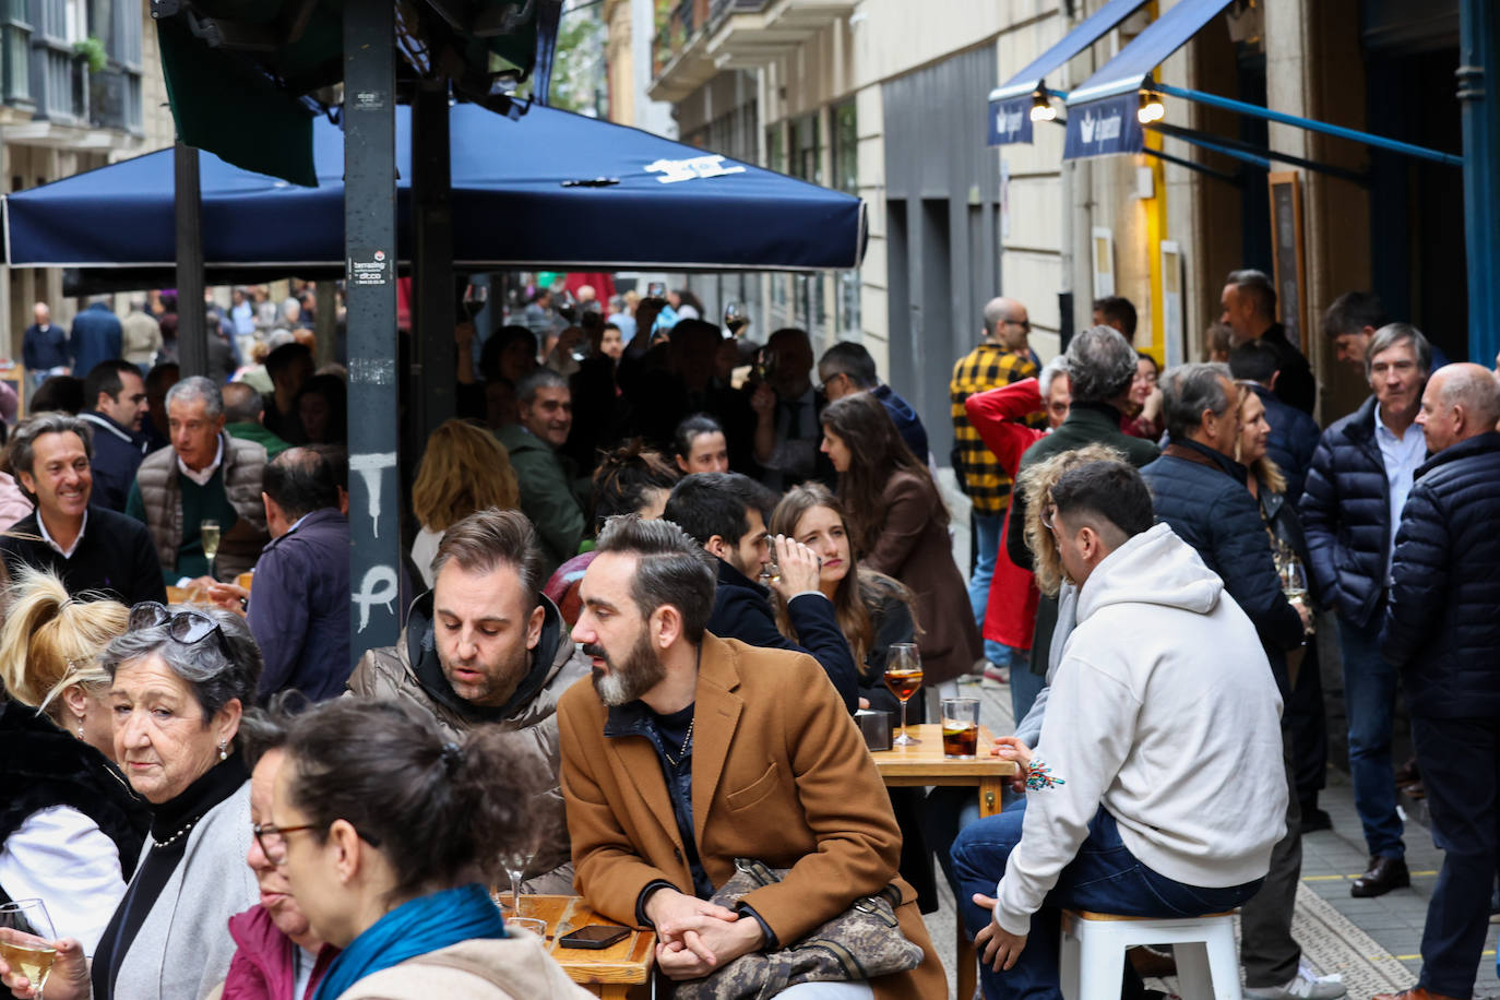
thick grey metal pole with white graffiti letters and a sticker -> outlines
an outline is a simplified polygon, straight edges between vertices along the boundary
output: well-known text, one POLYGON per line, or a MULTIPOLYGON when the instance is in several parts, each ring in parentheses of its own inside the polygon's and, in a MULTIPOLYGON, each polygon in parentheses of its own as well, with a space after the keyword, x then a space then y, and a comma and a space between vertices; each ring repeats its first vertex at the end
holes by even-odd
MULTIPOLYGON (((344 4, 344 253, 350 345, 350 655, 400 631, 396 483, 396 25, 344 4)), ((332 303, 330 303, 332 304, 332 303)))

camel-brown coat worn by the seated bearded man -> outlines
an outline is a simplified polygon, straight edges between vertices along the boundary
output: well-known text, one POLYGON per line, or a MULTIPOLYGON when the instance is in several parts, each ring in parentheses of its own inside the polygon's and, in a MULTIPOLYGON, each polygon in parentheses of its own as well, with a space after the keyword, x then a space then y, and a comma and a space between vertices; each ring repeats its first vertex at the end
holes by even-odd
MULTIPOLYGON (((656 750, 642 736, 604 736, 606 718, 586 682, 558 703, 562 796, 578 891, 633 925, 646 885, 692 894, 693 877, 656 750)), ((790 945, 894 882, 902 933, 926 958, 873 981, 874 996, 946 996, 916 894, 896 874, 902 832, 891 799, 818 661, 704 636, 693 720, 693 828, 712 883, 729 880, 735 858, 790 868, 744 898, 790 945)))

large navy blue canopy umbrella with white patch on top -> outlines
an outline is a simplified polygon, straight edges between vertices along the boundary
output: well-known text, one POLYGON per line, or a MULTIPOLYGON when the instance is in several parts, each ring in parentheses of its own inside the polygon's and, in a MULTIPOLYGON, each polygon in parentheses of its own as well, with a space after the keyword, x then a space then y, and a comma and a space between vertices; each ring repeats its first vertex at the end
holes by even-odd
MULTIPOLYGON (((518 118, 452 109, 453 261, 460 270, 854 268, 864 202, 638 129, 532 105, 518 118)), ((399 253, 411 252, 410 108, 398 108, 399 253)), ((344 132, 314 124, 318 186, 200 151, 213 271, 344 271, 344 132)), ((3 199, 10 267, 168 268, 172 151, 3 199)))

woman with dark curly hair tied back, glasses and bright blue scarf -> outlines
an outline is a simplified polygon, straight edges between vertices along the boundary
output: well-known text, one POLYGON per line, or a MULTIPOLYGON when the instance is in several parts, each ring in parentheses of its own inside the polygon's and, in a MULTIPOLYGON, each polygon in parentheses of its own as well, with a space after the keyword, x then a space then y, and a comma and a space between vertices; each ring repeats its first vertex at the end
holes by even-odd
POLYGON ((514 739, 482 726, 450 742, 399 702, 339 699, 292 721, 255 837, 309 931, 344 949, 315 1000, 588 996, 477 882, 500 874, 544 783, 514 739))

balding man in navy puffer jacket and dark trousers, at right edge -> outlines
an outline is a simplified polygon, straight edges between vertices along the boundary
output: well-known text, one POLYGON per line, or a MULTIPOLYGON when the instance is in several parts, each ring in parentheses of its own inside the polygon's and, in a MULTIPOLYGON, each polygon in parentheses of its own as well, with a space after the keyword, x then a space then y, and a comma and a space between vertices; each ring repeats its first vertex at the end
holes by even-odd
MULTIPOLYGON (((1380 634, 1443 846, 1422 975, 1400 1000, 1468 997, 1500 861, 1500 387, 1478 364, 1432 373, 1418 424, 1432 453, 1401 513, 1380 634)), ((1376 1000, 1396 1000, 1389 994, 1376 1000)))

